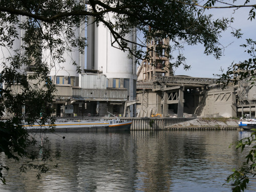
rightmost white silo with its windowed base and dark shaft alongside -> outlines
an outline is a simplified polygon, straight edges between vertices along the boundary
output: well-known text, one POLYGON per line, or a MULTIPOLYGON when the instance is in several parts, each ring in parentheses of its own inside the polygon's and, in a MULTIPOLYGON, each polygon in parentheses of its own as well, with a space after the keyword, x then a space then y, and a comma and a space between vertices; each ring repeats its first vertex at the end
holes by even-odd
MULTIPOLYGON (((115 23, 113 14, 108 13, 105 16, 107 19, 112 19, 115 23)), ((87 28, 88 48, 87 48, 87 68, 102 71, 108 79, 108 88, 126 88, 129 100, 134 100, 136 97, 136 65, 135 58, 128 58, 129 51, 122 51, 115 47, 118 44, 115 42, 114 37, 110 30, 102 23, 98 26, 92 24, 92 19, 89 20, 87 28), (91 45, 90 45, 91 44, 91 45)), ((126 37, 131 42, 136 42, 135 29, 131 29, 126 37)), ((134 49, 134 44, 129 43, 129 48, 134 49)), ((133 114, 133 110, 131 107, 133 114)))

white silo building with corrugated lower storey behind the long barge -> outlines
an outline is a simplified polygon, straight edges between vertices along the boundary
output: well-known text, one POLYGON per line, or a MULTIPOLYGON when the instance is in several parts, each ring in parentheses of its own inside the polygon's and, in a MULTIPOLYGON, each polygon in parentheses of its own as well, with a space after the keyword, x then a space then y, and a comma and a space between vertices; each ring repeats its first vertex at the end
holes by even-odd
MULTIPOLYGON (((136 115, 135 58, 128 58, 127 52, 113 48, 110 31, 103 25, 96 26, 93 20, 91 22, 87 27, 89 44, 87 58, 79 50, 73 49, 64 53, 64 62, 56 63, 51 57, 50 50, 41 51, 42 59, 48 64, 50 78, 57 90, 52 103, 56 109, 53 115, 56 117, 105 116, 111 112, 118 116, 127 114, 133 117, 136 115), (73 65, 74 62, 77 66, 73 65), (81 73, 77 72, 77 67, 81 69, 81 73)), ((86 35, 84 25, 74 31, 77 36, 86 35)), ((22 34, 22 30, 19 30, 18 38, 14 40, 13 51, 1 47, 0 71, 10 67, 7 57, 15 55, 14 50, 22 51, 22 34)), ((136 41, 135 30, 127 38, 136 41)), ((133 44, 129 46, 134 49, 133 44)), ((22 66, 20 73, 32 74, 31 67, 22 66)), ((33 80, 30 83, 33 84, 33 80)), ((5 88, 5 83, 3 87, 5 88)), ((22 93, 19 84, 14 84, 11 90, 12 94, 22 93)), ((12 114, 7 112, 8 115, 12 114)))

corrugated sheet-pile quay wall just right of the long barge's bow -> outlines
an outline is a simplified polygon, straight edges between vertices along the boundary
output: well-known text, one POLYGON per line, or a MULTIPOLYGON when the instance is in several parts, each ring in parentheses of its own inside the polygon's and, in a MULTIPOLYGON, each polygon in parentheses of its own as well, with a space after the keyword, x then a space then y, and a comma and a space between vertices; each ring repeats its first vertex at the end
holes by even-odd
POLYGON ((196 118, 168 118, 168 117, 121 117, 120 119, 132 120, 131 130, 133 131, 151 131, 165 130, 166 126, 176 123, 193 120, 196 118))

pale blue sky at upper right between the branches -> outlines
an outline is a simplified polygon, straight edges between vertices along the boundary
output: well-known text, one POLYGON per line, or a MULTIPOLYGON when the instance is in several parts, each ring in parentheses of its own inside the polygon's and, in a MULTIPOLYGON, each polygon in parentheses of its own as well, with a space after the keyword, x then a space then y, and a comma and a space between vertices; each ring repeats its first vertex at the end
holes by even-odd
MULTIPOLYGON (((253 1, 251 4, 253 4, 253 1)), ((244 52, 245 49, 240 47, 240 45, 246 43, 247 38, 256 40, 256 20, 248 20, 249 11, 249 8, 240 8, 232 14, 233 9, 210 10, 215 18, 234 17, 232 26, 236 29, 241 29, 243 37, 240 39, 232 37, 230 34, 231 30, 222 33, 220 42, 226 48, 223 50, 223 56, 218 60, 212 55, 207 56, 203 54, 204 48, 202 45, 185 46, 183 54, 187 58, 187 65, 190 65, 191 69, 188 71, 185 71, 182 67, 174 69, 174 74, 192 77, 217 78, 214 74, 221 74, 221 68, 226 71, 232 62, 237 63, 249 58, 249 55, 244 52)))

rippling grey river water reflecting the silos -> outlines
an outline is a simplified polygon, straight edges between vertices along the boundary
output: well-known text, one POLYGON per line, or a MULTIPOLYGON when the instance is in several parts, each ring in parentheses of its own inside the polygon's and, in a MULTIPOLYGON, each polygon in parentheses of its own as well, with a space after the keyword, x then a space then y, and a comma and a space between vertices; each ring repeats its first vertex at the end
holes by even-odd
MULTIPOLYGON (((19 173, 26 160, 15 162, 0 154, 0 164, 10 167, 0 191, 231 191, 225 179, 245 154, 229 145, 249 135, 238 131, 48 134, 52 153, 61 153, 49 172, 37 180, 33 169, 19 173)), ((245 191, 256 191, 255 179, 245 191)))

